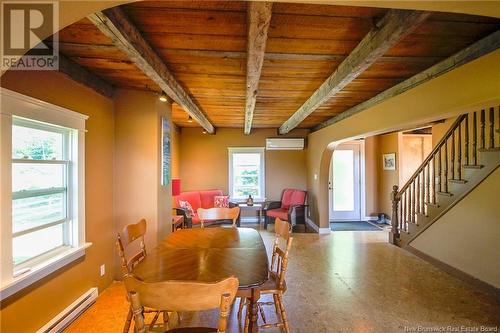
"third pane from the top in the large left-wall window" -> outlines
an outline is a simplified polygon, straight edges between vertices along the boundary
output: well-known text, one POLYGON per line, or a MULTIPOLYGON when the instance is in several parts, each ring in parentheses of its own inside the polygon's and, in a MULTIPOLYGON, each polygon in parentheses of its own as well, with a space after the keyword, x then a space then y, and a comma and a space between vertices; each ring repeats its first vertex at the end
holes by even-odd
POLYGON ((12 201, 12 232, 31 229, 66 218, 65 193, 12 201))

